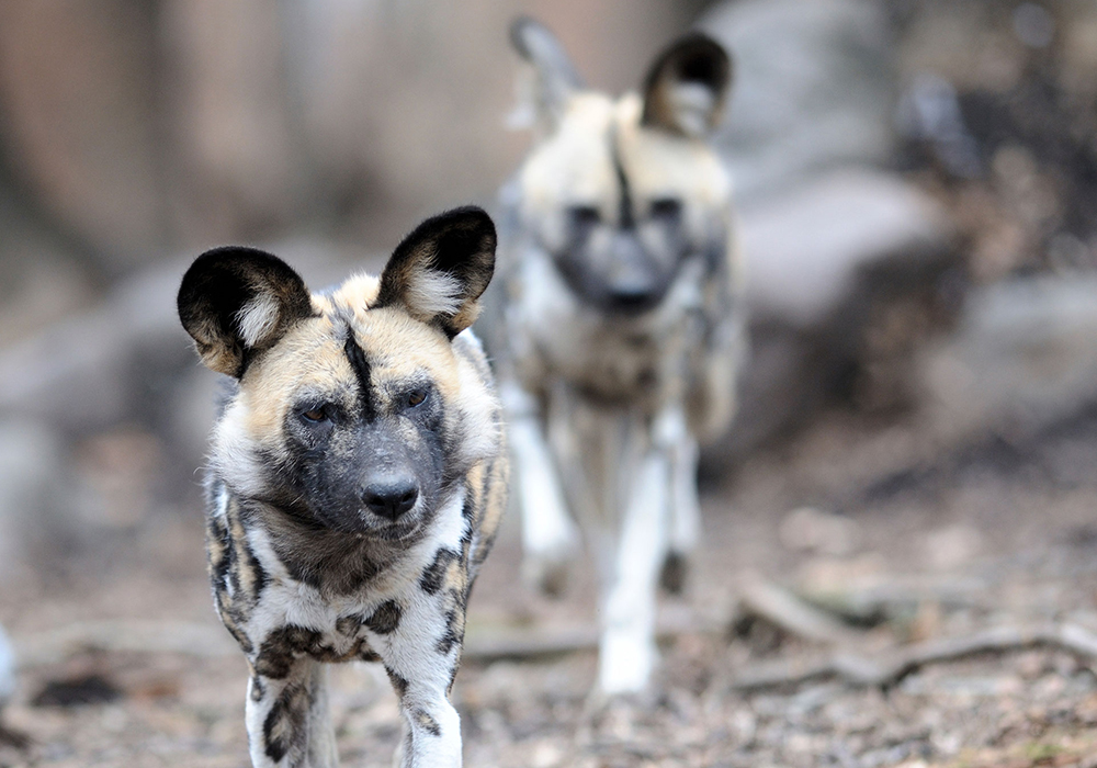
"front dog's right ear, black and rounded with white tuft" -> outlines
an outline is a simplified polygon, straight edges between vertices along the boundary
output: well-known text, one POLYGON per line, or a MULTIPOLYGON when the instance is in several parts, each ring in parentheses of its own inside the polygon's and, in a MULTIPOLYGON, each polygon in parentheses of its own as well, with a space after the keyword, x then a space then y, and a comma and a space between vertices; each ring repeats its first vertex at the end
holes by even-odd
POLYGON ((495 272, 495 224, 483 208, 454 208, 428 218, 393 251, 374 307, 400 306, 451 339, 479 314, 495 272))

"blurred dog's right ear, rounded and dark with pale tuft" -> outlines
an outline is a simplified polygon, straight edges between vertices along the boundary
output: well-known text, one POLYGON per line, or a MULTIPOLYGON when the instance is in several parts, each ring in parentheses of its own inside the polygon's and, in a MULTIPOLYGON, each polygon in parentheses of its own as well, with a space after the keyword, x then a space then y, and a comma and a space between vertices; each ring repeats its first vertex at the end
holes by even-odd
POLYGON ((701 138, 720 123, 732 83, 732 59, 700 32, 671 43, 644 79, 644 125, 701 138))

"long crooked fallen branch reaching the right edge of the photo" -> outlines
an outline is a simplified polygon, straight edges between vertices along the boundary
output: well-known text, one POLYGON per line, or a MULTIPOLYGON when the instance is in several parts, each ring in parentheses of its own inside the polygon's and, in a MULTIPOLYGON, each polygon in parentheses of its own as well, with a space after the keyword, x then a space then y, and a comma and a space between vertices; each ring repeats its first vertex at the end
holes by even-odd
POLYGON ((883 687, 894 685, 929 664, 954 662, 981 653, 1024 651, 1036 646, 1059 648, 1097 662, 1097 634, 1076 624, 997 626, 968 637, 917 643, 880 658, 839 653, 826 658, 761 664, 738 675, 732 680, 731 687, 734 690, 753 691, 835 678, 851 686, 883 687))

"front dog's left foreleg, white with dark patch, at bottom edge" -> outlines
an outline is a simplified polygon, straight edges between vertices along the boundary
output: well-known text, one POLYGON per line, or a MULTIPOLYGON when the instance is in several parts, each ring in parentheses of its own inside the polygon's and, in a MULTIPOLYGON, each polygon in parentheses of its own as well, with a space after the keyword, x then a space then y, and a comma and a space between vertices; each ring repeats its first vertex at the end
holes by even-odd
POLYGON ((253 673, 248 680, 245 721, 252 766, 337 768, 325 665, 298 657, 265 671, 271 674, 253 673))

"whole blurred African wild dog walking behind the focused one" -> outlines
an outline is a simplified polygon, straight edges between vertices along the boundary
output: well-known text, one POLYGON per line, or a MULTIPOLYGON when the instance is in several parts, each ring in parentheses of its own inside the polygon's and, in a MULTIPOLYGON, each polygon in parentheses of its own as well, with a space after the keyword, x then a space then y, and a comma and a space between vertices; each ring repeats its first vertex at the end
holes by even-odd
MULTIPOLYGON (((734 410, 743 347, 731 183, 706 138, 731 60, 691 33, 642 93, 586 89, 534 21, 511 37, 531 65, 538 140, 504 189, 495 340, 510 422, 525 573, 550 590, 576 547, 602 584, 599 686, 643 689, 655 592, 680 588, 700 524, 698 442, 734 410)), ((495 350, 493 350, 495 351, 495 350)))

